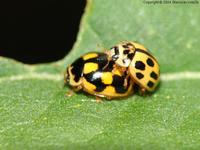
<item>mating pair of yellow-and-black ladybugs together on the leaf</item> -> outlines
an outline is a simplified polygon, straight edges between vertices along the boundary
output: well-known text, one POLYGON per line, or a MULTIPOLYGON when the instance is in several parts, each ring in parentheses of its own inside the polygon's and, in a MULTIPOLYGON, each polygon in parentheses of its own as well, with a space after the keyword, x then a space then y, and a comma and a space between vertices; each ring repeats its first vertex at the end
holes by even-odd
POLYGON ((104 53, 87 53, 67 67, 65 84, 74 91, 111 98, 129 96, 134 86, 152 92, 159 83, 157 60, 138 43, 122 42, 104 53))

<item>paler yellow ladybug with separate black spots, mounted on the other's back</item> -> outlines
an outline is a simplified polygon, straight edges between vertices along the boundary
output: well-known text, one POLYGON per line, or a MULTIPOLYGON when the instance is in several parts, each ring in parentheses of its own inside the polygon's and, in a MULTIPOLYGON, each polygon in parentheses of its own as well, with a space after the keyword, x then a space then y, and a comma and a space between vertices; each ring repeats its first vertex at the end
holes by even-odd
POLYGON ((127 70, 142 93, 153 92, 160 80, 158 61, 141 44, 125 41, 105 52, 122 70, 127 70))

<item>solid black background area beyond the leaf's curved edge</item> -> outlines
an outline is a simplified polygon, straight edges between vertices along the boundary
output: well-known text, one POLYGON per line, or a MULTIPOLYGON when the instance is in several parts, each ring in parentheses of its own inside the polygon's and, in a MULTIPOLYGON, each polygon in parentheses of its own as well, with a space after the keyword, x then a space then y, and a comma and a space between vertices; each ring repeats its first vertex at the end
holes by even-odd
POLYGON ((79 30, 85 0, 0 1, 0 56, 35 64, 62 59, 79 30))

